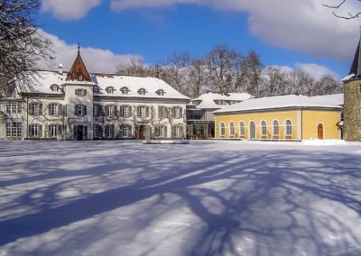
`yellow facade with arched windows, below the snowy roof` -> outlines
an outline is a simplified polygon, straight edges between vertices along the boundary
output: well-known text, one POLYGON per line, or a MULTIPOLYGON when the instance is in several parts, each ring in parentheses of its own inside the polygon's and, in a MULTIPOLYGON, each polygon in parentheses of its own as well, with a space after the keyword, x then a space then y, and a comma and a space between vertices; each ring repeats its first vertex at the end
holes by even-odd
POLYGON ((216 114, 216 138, 296 141, 318 138, 340 139, 337 125, 339 121, 339 109, 222 113, 216 114), (223 135, 221 134, 222 123, 224 124, 223 135), (232 123, 234 128, 232 128, 232 123), (244 123, 244 129, 242 129, 242 123, 244 123), (252 132, 252 123, 255 123, 255 133, 252 132), (322 134, 319 129, 322 129, 322 134), (322 136, 319 137, 320 135, 322 136))

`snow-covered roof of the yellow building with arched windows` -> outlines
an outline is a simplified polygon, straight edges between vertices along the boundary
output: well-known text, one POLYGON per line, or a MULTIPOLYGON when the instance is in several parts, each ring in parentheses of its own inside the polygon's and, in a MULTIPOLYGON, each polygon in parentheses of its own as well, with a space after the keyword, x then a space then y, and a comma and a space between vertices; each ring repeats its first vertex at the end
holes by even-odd
POLYGON ((228 105, 213 112, 215 114, 243 112, 253 110, 266 110, 276 108, 298 108, 298 107, 320 107, 320 108, 342 108, 337 104, 330 104, 317 98, 301 95, 269 96, 251 98, 235 105, 228 105))

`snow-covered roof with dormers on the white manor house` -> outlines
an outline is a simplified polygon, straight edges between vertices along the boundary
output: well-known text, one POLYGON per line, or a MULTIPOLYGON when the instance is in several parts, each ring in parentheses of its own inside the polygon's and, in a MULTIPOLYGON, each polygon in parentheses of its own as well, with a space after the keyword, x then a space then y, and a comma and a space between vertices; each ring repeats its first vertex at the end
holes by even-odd
POLYGON ((146 97, 146 98, 172 98, 172 99, 190 99, 188 96, 183 96, 176 89, 165 83, 159 78, 142 78, 142 77, 128 77, 117 75, 101 75, 90 74, 92 82, 87 81, 67 81, 67 73, 60 74, 55 71, 40 71, 34 78, 34 92, 45 94, 62 94, 61 90, 51 90, 51 85, 58 85, 62 87, 65 84, 86 84, 89 86, 98 86, 99 93, 95 96, 125 96, 125 97, 146 97), (113 93, 107 93, 106 87, 113 87, 113 93), (128 88, 128 93, 124 94, 120 89, 128 88), (138 93, 139 89, 145 89, 145 94, 138 93), (156 92, 162 90, 164 95, 161 96, 156 92))

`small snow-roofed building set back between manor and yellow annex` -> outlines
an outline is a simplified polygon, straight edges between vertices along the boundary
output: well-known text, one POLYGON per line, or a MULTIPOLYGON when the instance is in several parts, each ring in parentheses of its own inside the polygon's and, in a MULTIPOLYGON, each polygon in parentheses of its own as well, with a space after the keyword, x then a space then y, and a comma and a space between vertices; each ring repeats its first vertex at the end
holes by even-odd
POLYGON ((246 93, 206 93, 192 99, 187 105, 188 135, 190 139, 211 139, 215 137, 214 111, 242 102, 252 96, 246 93))

